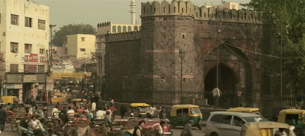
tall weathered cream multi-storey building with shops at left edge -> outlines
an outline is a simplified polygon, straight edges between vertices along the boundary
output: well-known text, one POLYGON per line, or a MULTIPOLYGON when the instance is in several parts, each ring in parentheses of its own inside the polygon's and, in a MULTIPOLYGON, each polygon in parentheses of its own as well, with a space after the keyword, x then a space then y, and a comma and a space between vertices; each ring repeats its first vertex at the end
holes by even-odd
POLYGON ((49 42, 49 6, 27 0, 0 1, 2 95, 22 99, 43 93, 49 42))

